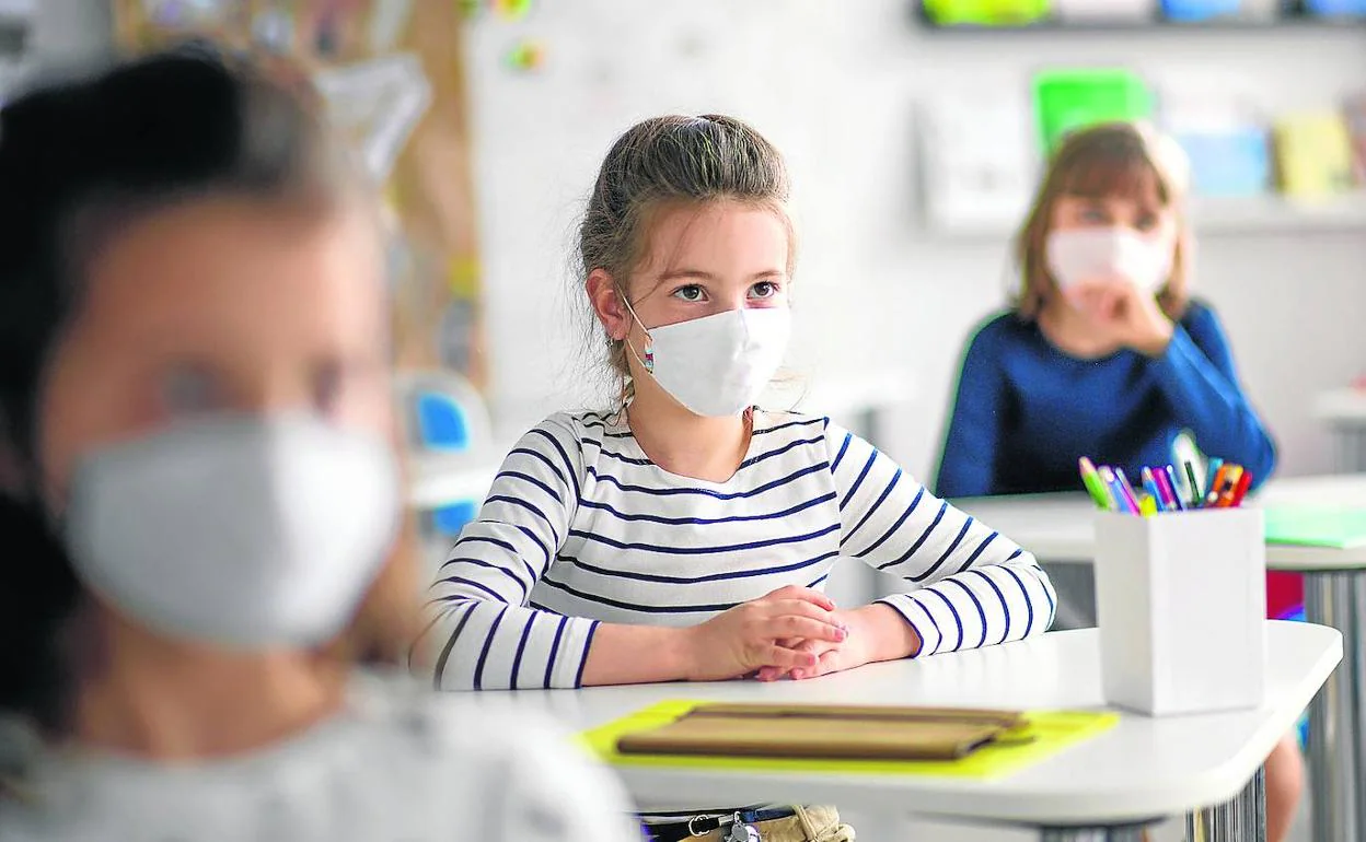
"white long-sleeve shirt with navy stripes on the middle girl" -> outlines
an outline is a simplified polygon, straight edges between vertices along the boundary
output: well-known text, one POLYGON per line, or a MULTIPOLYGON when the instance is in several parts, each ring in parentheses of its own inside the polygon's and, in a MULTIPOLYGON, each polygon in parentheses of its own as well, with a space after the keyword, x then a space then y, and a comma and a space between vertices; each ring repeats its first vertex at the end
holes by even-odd
POLYGON ((755 412, 713 483, 653 464, 620 415, 555 415, 512 449, 430 592, 438 688, 572 688, 600 622, 695 625, 840 557, 911 583, 880 602, 919 655, 1037 635, 1053 590, 1034 557, 934 498, 828 418, 755 412))

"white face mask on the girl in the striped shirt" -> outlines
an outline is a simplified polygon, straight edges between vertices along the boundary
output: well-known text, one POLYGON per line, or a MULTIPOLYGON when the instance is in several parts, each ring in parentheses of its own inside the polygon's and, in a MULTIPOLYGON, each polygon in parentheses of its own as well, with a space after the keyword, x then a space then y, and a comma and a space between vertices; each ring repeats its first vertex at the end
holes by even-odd
POLYGON ((792 330, 788 307, 743 307, 675 325, 646 328, 637 358, 665 392, 695 415, 739 415, 773 379, 792 330))

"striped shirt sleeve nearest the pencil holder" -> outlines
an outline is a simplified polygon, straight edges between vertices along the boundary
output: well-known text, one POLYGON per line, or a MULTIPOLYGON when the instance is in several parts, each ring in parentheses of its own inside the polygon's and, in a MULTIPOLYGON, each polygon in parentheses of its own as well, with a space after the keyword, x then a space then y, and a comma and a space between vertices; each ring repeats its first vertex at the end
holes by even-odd
POLYGON ((907 594, 880 599, 915 629, 919 655, 1038 635, 1055 594, 1034 557, 902 471, 866 441, 826 426, 840 508, 840 553, 900 576, 907 594))

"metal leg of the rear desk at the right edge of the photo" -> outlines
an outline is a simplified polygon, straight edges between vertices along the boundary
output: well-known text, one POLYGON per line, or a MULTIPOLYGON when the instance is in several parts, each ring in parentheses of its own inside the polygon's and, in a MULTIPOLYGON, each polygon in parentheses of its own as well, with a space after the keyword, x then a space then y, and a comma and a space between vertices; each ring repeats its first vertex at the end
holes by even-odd
POLYGON ((1313 831, 1317 842, 1359 842, 1366 830, 1361 804, 1362 740, 1362 632, 1366 622, 1366 575, 1306 573, 1305 618, 1343 633, 1343 662, 1328 677, 1309 708, 1309 778, 1313 831))

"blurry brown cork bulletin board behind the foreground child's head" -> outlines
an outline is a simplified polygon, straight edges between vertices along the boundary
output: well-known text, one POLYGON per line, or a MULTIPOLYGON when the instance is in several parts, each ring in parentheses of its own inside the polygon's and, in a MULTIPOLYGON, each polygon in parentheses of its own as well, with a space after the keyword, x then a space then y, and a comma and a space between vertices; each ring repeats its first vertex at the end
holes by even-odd
POLYGON ((141 52, 193 37, 311 76, 382 184, 396 358, 488 386, 462 4, 428 0, 111 0, 141 52))

